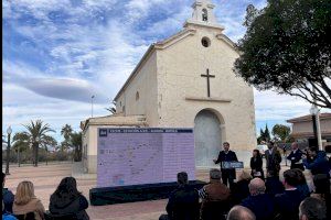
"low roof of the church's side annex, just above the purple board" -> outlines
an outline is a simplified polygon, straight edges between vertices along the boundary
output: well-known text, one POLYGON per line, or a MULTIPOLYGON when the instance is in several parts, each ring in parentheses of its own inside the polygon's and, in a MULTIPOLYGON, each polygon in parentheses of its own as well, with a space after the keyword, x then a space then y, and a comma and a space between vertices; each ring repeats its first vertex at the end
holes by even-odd
POLYGON ((122 116, 113 114, 106 117, 89 118, 81 121, 81 129, 85 131, 88 125, 109 125, 109 127, 146 127, 145 116, 122 116))

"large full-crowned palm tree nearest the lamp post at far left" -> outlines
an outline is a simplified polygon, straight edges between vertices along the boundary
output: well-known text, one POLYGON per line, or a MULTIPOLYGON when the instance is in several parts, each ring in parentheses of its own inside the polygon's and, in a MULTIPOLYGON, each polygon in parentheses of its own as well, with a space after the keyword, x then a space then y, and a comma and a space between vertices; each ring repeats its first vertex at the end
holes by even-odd
POLYGON ((45 143, 51 139, 46 133, 55 132, 51 129, 50 124, 43 123, 42 120, 31 121, 31 124, 23 124, 28 131, 23 132, 29 138, 29 142, 32 144, 34 155, 34 166, 38 166, 38 151, 39 145, 45 143))

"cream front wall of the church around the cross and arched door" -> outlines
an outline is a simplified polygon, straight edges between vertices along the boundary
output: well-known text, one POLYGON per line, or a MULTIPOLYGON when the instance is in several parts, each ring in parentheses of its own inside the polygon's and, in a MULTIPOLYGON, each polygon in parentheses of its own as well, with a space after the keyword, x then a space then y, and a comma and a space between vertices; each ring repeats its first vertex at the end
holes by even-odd
POLYGON ((199 29, 179 43, 158 53, 159 127, 194 127, 202 109, 216 110, 225 122, 225 139, 234 150, 250 151, 256 147, 255 109, 253 88, 232 70, 238 54, 217 32, 199 29), (203 47, 201 38, 211 40, 203 47), (206 79, 201 74, 216 75, 211 79, 211 97, 231 99, 226 102, 190 101, 185 97, 206 97, 206 79))

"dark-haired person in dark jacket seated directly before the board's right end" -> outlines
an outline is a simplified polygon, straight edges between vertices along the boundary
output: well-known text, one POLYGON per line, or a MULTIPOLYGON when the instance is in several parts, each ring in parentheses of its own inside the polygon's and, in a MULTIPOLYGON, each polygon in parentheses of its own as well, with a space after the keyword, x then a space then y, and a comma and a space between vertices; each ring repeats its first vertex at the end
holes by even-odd
POLYGON ((197 220, 199 215, 199 193, 189 186, 188 174, 185 172, 177 175, 178 188, 170 194, 166 210, 168 215, 162 215, 160 220, 197 220))

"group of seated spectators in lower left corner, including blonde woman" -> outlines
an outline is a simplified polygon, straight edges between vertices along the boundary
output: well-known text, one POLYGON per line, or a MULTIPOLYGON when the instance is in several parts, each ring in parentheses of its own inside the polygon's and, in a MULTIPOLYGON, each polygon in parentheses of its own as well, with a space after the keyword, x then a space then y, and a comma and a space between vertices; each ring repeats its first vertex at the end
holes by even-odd
POLYGON ((77 190, 76 179, 65 177, 50 198, 49 211, 34 195, 31 182, 21 182, 13 195, 4 188, 6 174, 2 180, 2 220, 88 220, 87 199, 77 190))

